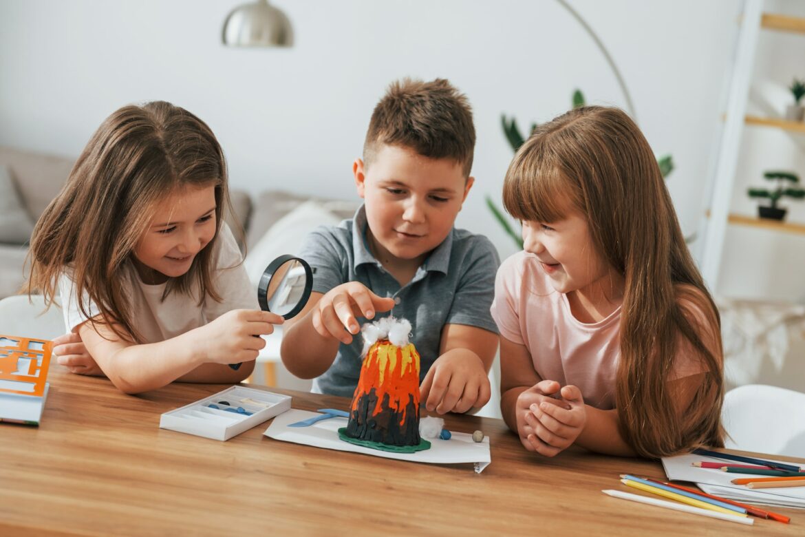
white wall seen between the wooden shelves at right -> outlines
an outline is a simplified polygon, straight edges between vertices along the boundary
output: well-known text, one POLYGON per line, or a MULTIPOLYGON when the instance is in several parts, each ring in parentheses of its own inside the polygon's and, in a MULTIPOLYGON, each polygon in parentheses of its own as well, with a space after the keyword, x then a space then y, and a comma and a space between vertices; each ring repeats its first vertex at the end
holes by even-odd
MULTIPOLYGON (((805 18, 805 2, 767 0, 766 10, 805 18)), ((747 113, 782 118, 793 102, 788 86, 805 79, 805 35, 763 30, 752 73, 747 113)), ((805 135, 746 126, 741 141, 731 212, 757 215, 747 188, 770 186, 763 172, 782 169, 805 181, 805 135)), ((805 185, 800 185, 805 186, 805 185)), ((805 201, 783 198, 787 221, 805 222, 805 201)), ((805 302, 805 236, 730 225, 717 291, 733 298, 805 302)))

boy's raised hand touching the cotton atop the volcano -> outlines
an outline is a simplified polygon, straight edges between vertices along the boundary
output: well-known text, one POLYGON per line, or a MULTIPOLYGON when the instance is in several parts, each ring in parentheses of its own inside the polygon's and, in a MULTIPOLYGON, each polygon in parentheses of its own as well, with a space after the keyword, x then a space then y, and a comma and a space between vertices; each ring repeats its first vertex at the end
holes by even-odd
POLYGON ((362 283, 342 283, 319 299, 313 308, 313 328, 322 337, 332 337, 345 345, 361 331, 357 317, 374 319, 377 312, 394 308, 394 299, 375 295, 362 283))

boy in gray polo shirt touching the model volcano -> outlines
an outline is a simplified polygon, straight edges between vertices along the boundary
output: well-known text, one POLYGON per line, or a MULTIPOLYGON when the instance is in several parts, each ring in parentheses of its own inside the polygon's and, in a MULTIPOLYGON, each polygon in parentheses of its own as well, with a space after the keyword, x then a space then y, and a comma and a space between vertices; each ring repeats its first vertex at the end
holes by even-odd
POLYGON ((362 363, 354 336, 366 320, 394 315, 411 321, 429 411, 489 401, 499 260, 489 239, 453 228, 473 186, 474 146, 467 98, 448 81, 395 82, 375 107, 353 163, 364 204, 308 236, 300 257, 316 269, 313 292, 285 323, 283 363, 316 378, 315 391, 352 397, 362 363))

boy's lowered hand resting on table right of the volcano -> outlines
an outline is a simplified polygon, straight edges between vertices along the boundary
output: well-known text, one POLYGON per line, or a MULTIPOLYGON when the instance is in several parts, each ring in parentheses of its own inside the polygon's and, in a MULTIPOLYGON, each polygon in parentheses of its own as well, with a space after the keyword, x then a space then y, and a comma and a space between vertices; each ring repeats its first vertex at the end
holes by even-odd
POLYGON ((419 388, 425 408, 439 414, 483 407, 490 394, 484 363, 469 349, 452 349, 438 357, 419 388))

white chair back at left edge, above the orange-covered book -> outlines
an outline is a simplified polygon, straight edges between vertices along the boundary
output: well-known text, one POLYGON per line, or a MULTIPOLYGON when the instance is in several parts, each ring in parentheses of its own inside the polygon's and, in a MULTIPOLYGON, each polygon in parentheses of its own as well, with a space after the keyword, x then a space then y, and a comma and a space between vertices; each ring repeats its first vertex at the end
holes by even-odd
POLYGON ((0 334, 53 339, 66 333, 61 308, 44 312, 42 295, 14 295, 0 300, 0 334))

